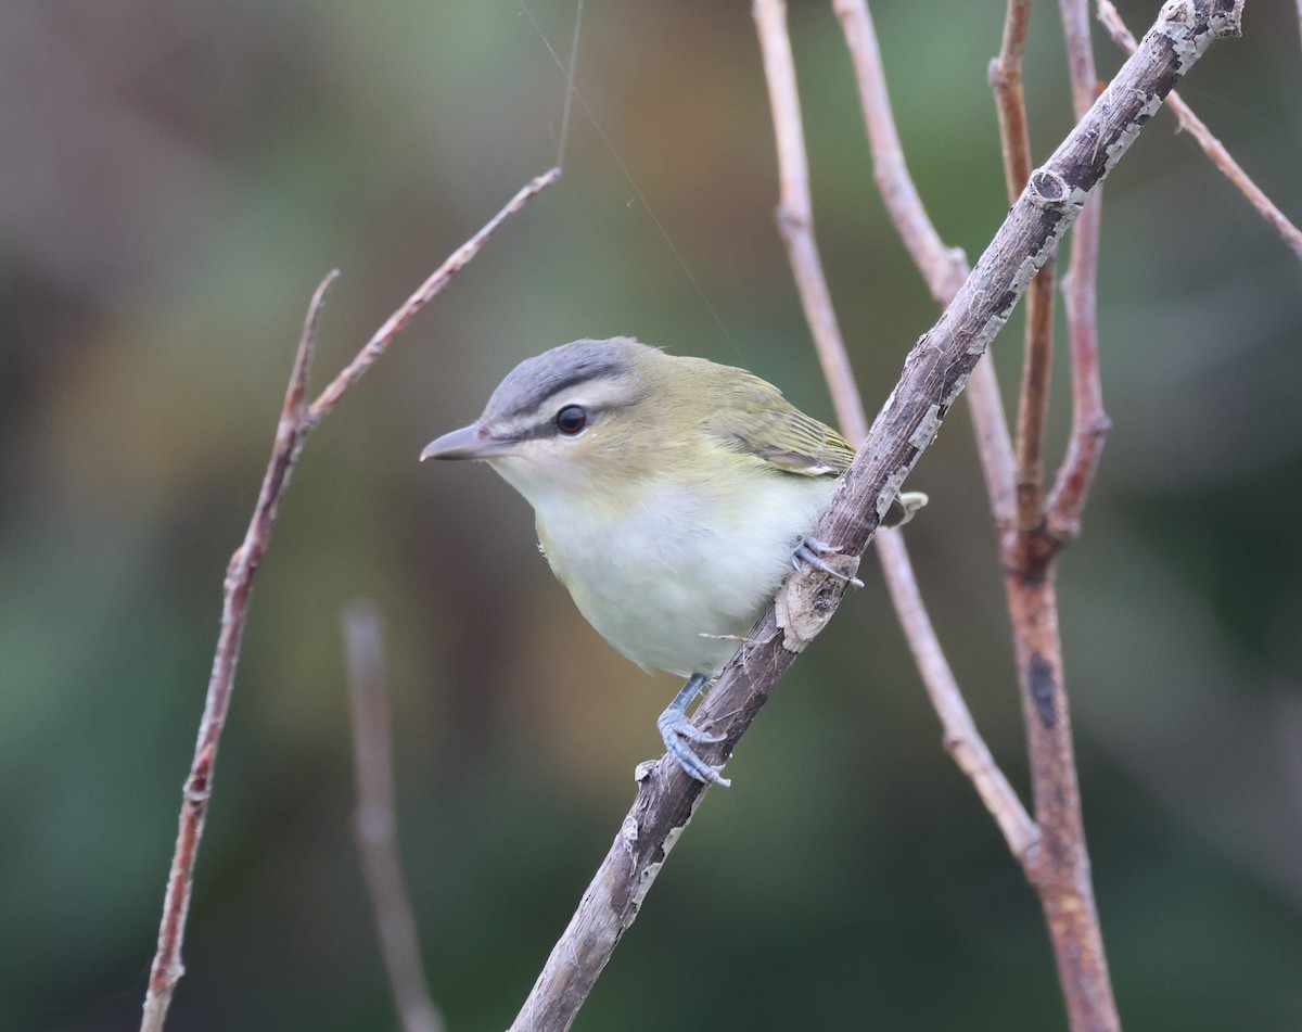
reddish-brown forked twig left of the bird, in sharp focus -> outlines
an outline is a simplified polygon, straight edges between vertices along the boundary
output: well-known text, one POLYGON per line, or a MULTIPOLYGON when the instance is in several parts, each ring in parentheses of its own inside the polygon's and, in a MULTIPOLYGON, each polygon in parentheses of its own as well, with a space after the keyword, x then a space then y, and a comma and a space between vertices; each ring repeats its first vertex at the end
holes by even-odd
POLYGON ((230 692, 234 687, 236 665, 240 659, 240 642, 249 615, 249 594, 253 582, 271 543, 280 499, 289 486, 289 474, 302 448, 303 439, 314 426, 331 410, 335 403, 352 387, 371 362, 388 348, 397 332, 428 301, 437 294, 448 280, 474 258, 488 240, 488 236, 508 218, 519 211, 529 201, 560 177, 560 169, 538 176, 521 189, 492 220, 458 248, 443 266, 421 288, 409 297, 397 311, 376 331, 358 356, 322 391, 309 407, 307 371, 311 364, 312 341, 316 321, 320 317, 326 291, 335 281, 337 272, 331 272, 307 309, 303 334, 298 344, 298 354, 285 392, 285 404, 280 422, 276 426, 276 442, 272 447, 267 473, 263 477, 262 493, 254 507, 253 520, 245 533, 243 543, 236 549, 227 569, 223 585, 221 629, 212 657, 212 674, 199 721, 199 739, 190 765, 190 775, 182 790, 180 827, 172 868, 168 873, 167 895, 163 900, 163 917, 159 924, 158 950, 150 968, 148 992, 145 997, 145 1014, 141 1032, 160 1032, 167 1019, 176 984, 185 973, 181 963, 181 946, 185 938, 185 920, 190 908, 190 891, 194 880, 194 861, 203 835, 203 821, 208 810, 208 796, 212 791, 212 767, 217 756, 221 731, 225 727, 227 710, 230 706, 230 692))

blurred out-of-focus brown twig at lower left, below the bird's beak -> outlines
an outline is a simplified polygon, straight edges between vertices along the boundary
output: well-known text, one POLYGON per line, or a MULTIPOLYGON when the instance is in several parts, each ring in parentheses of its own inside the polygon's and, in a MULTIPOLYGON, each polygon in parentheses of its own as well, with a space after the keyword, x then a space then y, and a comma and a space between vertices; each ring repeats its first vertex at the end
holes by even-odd
POLYGON ((443 1018, 424 979, 411 899, 398 860, 384 632, 379 612, 370 602, 352 602, 344 609, 342 628, 357 775, 354 831, 384 969, 404 1032, 443 1032, 443 1018))

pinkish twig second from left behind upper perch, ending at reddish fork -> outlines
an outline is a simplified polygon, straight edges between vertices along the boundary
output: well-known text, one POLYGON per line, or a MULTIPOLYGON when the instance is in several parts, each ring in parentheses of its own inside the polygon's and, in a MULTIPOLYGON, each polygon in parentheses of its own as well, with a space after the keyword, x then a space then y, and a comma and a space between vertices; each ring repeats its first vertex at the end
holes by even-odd
MULTIPOLYGON (((891 111, 881 51, 867 0, 833 0, 832 9, 841 20, 841 31, 854 63, 859 106, 863 108, 863 121, 872 149, 874 179, 887 215, 922 272, 932 298, 944 308, 953 301, 967 279, 967 259, 962 249, 947 248, 941 241, 913 185, 891 111)), ((1000 533, 1005 533, 1012 530, 1014 521, 1013 446, 1008 435, 1008 421, 1004 418, 999 380, 990 358, 978 362, 973 371, 967 384, 967 405, 971 409, 976 452, 986 473, 995 525, 1000 533)))

